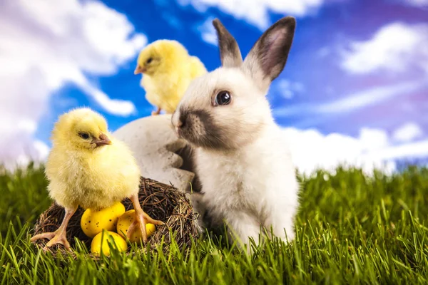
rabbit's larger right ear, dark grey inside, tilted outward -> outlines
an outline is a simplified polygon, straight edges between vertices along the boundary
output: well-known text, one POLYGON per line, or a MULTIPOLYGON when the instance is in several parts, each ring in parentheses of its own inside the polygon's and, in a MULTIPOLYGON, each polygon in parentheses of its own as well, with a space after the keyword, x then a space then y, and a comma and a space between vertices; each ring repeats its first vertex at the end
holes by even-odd
POLYGON ((260 36, 245 58, 243 70, 263 92, 267 92, 270 83, 284 69, 295 26, 296 20, 291 16, 278 20, 260 36))

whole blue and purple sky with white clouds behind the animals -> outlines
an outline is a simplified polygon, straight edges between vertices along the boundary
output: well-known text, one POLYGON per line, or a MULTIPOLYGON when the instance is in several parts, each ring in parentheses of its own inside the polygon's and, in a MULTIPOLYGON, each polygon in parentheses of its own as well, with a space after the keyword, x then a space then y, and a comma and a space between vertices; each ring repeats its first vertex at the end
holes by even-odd
POLYGON ((151 114, 136 57, 161 38, 220 65, 218 17, 245 56, 282 16, 297 28, 267 98, 303 171, 428 160, 428 0, 0 0, 0 163, 44 160, 61 113, 111 130, 151 114))

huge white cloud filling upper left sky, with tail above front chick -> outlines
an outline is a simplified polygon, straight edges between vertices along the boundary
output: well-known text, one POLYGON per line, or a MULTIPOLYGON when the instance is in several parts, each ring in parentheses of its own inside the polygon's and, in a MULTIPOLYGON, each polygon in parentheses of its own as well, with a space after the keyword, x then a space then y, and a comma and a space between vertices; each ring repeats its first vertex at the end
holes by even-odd
POLYGON ((0 163, 46 157, 34 132, 49 97, 66 83, 109 113, 136 110, 87 77, 115 74, 146 44, 123 14, 99 1, 14 0, 2 3, 0 26, 0 163))

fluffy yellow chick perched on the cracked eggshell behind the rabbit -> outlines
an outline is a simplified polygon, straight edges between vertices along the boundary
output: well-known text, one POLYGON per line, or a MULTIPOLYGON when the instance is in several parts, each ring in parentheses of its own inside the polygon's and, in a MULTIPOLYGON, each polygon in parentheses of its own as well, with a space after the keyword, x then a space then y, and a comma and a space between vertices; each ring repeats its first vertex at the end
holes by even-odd
POLYGON ((141 87, 146 99, 158 109, 174 113, 190 81, 207 73, 203 63, 178 41, 158 40, 146 46, 138 56, 134 74, 143 73, 141 87))

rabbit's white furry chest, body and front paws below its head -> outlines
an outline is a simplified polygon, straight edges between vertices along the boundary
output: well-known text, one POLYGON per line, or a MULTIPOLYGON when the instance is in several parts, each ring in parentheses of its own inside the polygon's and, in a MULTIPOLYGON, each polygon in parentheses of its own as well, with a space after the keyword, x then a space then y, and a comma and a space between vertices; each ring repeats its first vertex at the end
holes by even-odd
POLYGON ((275 236, 294 239, 298 184, 290 152, 272 123, 241 150, 221 153, 198 148, 197 171, 203 203, 218 222, 225 219, 242 242, 259 242, 260 225, 275 236))

